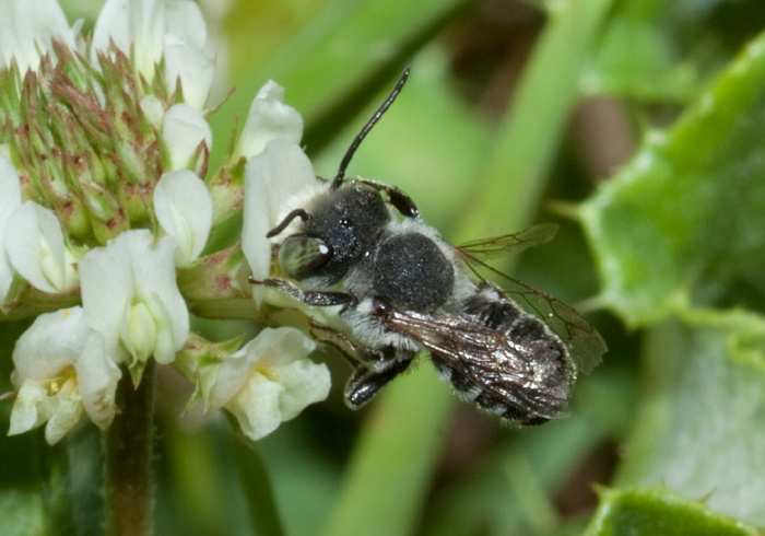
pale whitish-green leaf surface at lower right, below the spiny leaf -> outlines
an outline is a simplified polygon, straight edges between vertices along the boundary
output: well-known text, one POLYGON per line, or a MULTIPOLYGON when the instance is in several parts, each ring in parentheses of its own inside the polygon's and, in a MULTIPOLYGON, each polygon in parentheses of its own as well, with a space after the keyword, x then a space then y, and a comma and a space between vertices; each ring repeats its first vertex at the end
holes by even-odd
MULTIPOLYGON (((648 331, 620 486, 666 486, 765 525, 765 318, 694 312, 648 331)), ((693 534, 693 533, 687 533, 693 534)))

